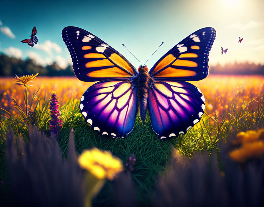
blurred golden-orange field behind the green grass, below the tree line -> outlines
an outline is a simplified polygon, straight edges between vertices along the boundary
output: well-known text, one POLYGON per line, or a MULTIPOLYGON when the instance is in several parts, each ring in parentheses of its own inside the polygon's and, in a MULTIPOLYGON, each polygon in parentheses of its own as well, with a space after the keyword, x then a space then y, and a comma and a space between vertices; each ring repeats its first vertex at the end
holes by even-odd
MULTIPOLYGON (((60 106, 67 104, 69 101, 78 101, 85 90, 93 83, 83 82, 76 77, 43 77, 37 76, 29 88, 29 100, 39 89, 35 100, 45 100, 54 91, 57 93, 60 106)), ((238 111, 245 108, 253 99, 264 92, 263 76, 223 76, 209 75, 202 81, 191 82, 197 86, 204 94, 206 100, 206 112, 210 116, 225 115, 230 108, 236 108, 238 111), (232 104, 235 103, 235 106, 232 104)), ((1 107, 5 110, 16 114, 12 97, 24 108, 23 94, 24 87, 14 85, 12 77, 0 79, 0 98, 1 107)), ((254 102, 255 100, 253 100, 254 102)), ((252 102, 251 102, 252 103, 252 102)), ((252 103, 254 104, 254 103, 252 103)))

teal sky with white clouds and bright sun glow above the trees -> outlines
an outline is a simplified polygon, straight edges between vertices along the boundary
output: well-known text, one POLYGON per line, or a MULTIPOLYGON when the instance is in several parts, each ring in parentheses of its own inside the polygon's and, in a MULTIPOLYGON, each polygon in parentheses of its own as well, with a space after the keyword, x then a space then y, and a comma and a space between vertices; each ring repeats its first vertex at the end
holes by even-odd
POLYGON ((119 51, 136 68, 164 41, 148 67, 192 32, 207 26, 217 31, 210 64, 255 62, 264 64, 264 18, 261 0, 186 1, 6 1, 0 2, 0 52, 39 64, 71 64, 62 41, 65 26, 90 31, 119 51), (20 41, 37 27, 33 48, 20 41), (244 37, 238 45, 238 37, 244 37), (221 46, 228 48, 221 56, 221 46))

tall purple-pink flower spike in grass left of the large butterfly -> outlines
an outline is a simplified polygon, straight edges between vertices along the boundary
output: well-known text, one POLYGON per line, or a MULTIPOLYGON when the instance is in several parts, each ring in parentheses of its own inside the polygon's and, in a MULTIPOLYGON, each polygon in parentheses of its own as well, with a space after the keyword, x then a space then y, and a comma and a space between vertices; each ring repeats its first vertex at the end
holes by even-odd
POLYGON ((51 99, 49 101, 50 117, 49 130, 57 136, 58 131, 62 127, 62 119, 60 118, 59 101, 55 92, 51 92, 51 99))

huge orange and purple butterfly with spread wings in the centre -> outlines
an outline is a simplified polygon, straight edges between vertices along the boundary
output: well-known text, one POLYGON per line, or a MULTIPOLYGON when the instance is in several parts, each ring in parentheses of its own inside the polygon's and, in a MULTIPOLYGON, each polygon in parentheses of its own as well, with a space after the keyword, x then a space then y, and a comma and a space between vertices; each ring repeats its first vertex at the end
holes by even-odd
POLYGON ((113 138, 128 136, 139 113, 147 110, 160 138, 186 133, 200 121, 205 109, 202 92, 185 81, 208 75, 208 55, 215 29, 199 29, 159 59, 148 72, 136 68, 118 51, 81 28, 69 26, 62 38, 70 51, 75 75, 81 81, 99 81, 80 101, 80 112, 94 130, 113 138))

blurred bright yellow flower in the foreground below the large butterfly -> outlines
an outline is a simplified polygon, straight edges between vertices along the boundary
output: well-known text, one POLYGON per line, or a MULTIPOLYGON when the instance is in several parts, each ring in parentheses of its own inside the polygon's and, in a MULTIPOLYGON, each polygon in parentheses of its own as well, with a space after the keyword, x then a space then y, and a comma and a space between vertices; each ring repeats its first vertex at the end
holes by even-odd
POLYGON ((121 159, 113 156, 109 151, 92 148, 84 150, 78 158, 81 168, 88 170, 96 178, 113 180, 116 174, 123 171, 121 159))

